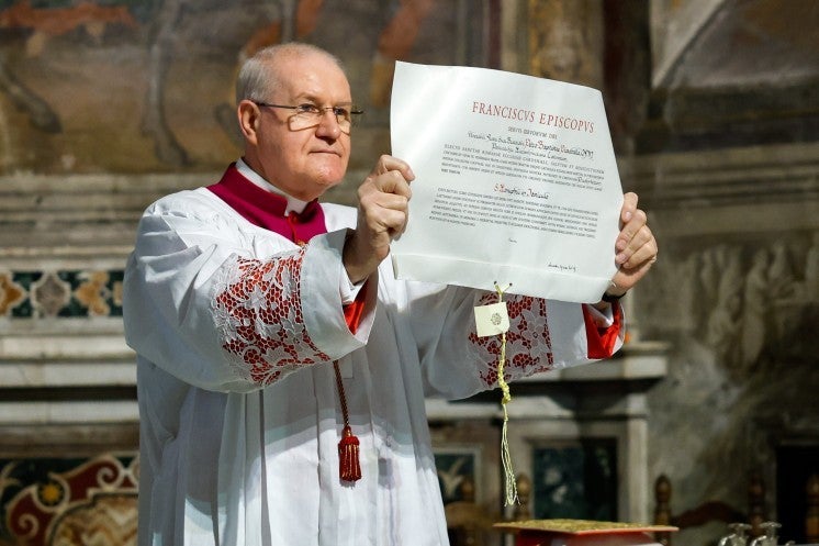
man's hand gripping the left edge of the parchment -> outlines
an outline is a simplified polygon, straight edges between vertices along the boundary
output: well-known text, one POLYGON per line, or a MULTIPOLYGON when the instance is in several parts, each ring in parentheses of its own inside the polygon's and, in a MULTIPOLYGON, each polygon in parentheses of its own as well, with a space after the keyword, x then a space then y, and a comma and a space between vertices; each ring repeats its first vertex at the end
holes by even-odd
POLYGON ((358 188, 358 222, 344 246, 347 276, 360 282, 390 254, 390 243, 406 225, 413 170, 397 157, 383 155, 358 188))

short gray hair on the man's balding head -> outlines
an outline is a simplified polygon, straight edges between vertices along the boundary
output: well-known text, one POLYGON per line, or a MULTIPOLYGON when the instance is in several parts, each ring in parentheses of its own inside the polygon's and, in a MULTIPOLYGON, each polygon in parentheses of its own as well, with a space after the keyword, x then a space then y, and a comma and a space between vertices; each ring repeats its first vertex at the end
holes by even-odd
POLYGON ((277 64, 284 57, 303 58, 310 55, 323 55, 327 59, 345 71, 344 65, 335 55, 312 44, 301 42, 289 42, 265 47, 256 52, 248 58, 236 79, 236 102, 243 100, 266 101, 273 93, 280 83, 281 75, 277 69, 277 64))

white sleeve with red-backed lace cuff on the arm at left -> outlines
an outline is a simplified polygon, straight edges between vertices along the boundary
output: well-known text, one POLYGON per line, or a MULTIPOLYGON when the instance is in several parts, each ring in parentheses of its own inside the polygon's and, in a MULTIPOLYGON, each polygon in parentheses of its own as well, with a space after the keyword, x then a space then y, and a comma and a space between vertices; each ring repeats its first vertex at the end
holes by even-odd
POLYGON ((299 248, 187 193, 184 209, 148 209, 128 259, 123 314, 138 354, 197 387, 249 391, 366 343, 374 297, 351 334, 338 291, 344 231, 299 248))

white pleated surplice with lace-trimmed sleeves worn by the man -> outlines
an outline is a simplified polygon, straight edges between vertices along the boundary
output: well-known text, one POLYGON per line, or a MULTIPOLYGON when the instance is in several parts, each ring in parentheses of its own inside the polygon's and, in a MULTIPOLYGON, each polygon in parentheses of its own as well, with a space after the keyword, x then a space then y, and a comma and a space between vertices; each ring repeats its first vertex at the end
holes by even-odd
MULTIPOLYGON (((476 338, 473 317, 496 294, 396 281, 388 259, 354 334, 339 279, 356 211, 323 210, 328 233, 304 247, 204 188, 143 216, 124 292, 142 546, 448 544, 425 397, 496 386, 498 339, 476 338), (338 477, 335 359, 361 442, 355 483, 338 477)), ((509 380, 591 361, 581 305, 508 301, 509 380)))

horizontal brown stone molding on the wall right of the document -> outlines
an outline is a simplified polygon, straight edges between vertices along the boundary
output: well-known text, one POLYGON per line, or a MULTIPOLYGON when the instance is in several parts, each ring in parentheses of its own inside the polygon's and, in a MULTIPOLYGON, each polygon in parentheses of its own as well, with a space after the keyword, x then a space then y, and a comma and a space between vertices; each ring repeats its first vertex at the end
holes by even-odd
POLYGON ((636 156, 620 161, 665 238, 819 227, 819 144, 636 156))

